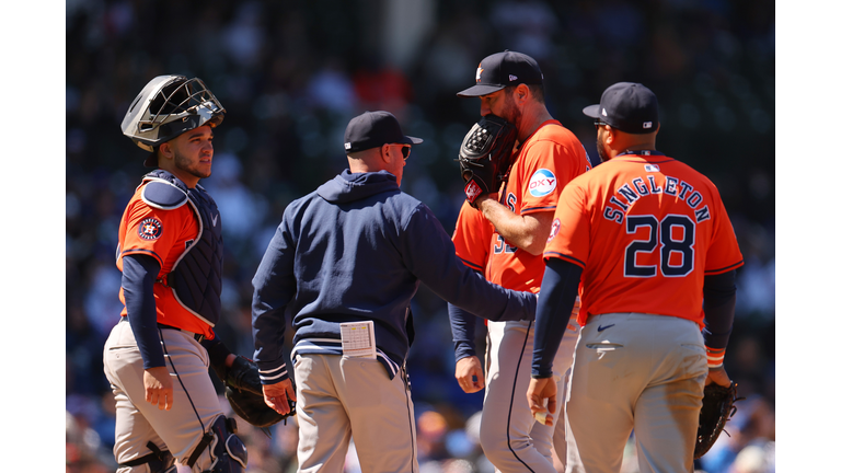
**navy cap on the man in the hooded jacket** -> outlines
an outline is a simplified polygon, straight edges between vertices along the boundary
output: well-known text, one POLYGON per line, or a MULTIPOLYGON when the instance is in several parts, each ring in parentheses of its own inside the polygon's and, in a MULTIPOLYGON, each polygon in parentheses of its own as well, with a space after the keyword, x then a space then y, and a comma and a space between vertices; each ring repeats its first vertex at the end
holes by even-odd
POLYGON ((389 143, 419 145, 420 138, 403 135, 398 118, 389 112, 366 112, 350 119, 345 129, 345 152, 365 151, 389 143))

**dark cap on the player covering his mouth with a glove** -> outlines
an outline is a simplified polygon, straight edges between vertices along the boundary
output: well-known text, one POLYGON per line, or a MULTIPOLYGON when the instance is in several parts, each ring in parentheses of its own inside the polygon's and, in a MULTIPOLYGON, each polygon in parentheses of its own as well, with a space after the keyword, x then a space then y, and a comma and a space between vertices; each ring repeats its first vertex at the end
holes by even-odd
POLYGON ((542 84, 543 72, 531 56, 506 49, 482 59, 476 69, 476 84, 456 95, 487 95, 508 85, 521 83, 542 84))

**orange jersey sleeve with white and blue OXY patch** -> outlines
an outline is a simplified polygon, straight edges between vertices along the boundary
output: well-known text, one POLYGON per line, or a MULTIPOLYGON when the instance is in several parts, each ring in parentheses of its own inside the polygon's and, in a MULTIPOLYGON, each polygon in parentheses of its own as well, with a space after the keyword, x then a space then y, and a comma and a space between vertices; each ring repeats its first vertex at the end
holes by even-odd
POLYGON ((576 147, 542 139, 530 143, 523 175, 521 215, 555 210, 561 191, 586 171, 586 159, 576 147))

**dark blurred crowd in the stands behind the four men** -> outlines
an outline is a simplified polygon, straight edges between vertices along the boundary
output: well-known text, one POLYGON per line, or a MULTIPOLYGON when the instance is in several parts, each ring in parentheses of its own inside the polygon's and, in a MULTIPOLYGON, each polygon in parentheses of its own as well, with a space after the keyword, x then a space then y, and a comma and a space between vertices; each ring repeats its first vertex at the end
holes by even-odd
MULTIPOLYGON (((201 185, 224 222, 217 333, 251 356, 260 258, 286 206, 346 166, 342 138, 353 116, 387 109, 404 132, 424 138, 402 187, 452 230, 463 200, 453 160, 479 118, 479 101, 456 92, 503 49, 539 61, 550 113, 594 164, 595 129, 581 108, 614 82, 642 82, 660 102, 658 149, 718 186, 746 257, 725 367, 747 399, 696 469, 774 471, 773 2, 68 0, 66 8, 67 472, 116 466, 102 347, 122 309, 117 227, 147 171, 146 152, 119 124, 151 78, 199 77, 228 111, 201 185)), ((446 303, 422 287, 413 312, 408 372, 422 471, 493 471, 477 442, 482 394, 464 394, 452 378, 446 303)), ((240 426, 250 472, 293 471, 293 422, 269 432, 240 426)), ((634 454, 630 441, 626 458, 634 454)), ((353 451, 346 471, 358 471, 353 451)))

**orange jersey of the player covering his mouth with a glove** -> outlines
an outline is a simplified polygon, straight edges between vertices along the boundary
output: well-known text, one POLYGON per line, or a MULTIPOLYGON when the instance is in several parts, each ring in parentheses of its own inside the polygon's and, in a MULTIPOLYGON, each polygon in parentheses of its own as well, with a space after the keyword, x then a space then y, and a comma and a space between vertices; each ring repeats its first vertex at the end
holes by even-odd
MULTIPOLYGON (((499 203, 516 215, 554 211, 564 186, 590 169, 581 142, 557 120, 543 123, 519 147, 499 203)), ((452 234, 456 254, 485 278, 508 289, 540 291, 543 261, 505 242, 493 224, 466 203, 452 234)))

